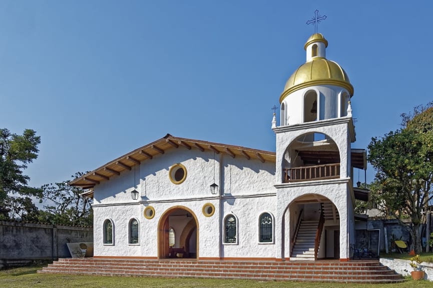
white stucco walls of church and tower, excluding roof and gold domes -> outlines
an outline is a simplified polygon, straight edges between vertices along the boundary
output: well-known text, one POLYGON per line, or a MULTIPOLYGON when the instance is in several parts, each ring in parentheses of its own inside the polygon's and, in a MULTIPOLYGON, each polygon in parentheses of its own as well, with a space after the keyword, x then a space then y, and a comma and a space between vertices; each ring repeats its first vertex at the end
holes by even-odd
MULTIPOLYGON (((307 61, 314 60, 311 57, 314 44, 317 56, 325 57, 325 43, 312 41, 306 47, 307 61)), ((323 217, 323 202, 329 202, 333 218, 323 222, 316 257, 347 260, 349 247, 354 244, 350 155, 355 132, 348 113, 349 99, 346 88, 327 83, 302 87, 284 97, 280 126, 273 122, 275 160, 265 161, 259 153, 251 157, 241 148, 239 153, 243 154, 234 155, 227 147, 225 152, 216 153, 211 145, 206 149, 200 145, 178 145, 130 170, 115 171, 117 174, 107 181, 92 180, 97 182, 93 187, 95 256, 173 256, 169 253, 173 250, 167 246, 170 228, 175 234, 173 248, 183 247, 188 257, 288 260, 298 219, 323 217), (313 100, 317 102, 317 113, 308 118, 306 113, 313 100), (324 138, 315 140, 315 134, 324 138), (305 150, 303 156, 299 156, 301 148, 305 150), (285 178, 286 169, 319 165, 320 157, 317 163, 308 162, 305 157, 309 151, 324 157, 326 153, 321 153, 322 150, 339 159, 338 175, 296 181, 285 178), (170 171, 179 165, 185 168, 186 175, 175 183, 170 171), (219 187, 216 194, 210 192, 209 185, 213 182, 219 187), (134 189, 139 192, 136 200, 131 197, 134 189), (214 211, 209 215, 204 209, 212 205, 214 211), (268 217, 261 219, 261 215, 268 217), (226 235, 229 218, 236 222, 235 237, 226 235), (132 219, 138 221, 137 243, 130 243, 132 219), (261 220, 267 221, 266 227, 271 223, 271 232, 266 230, 271 237, 266 241, 260 239, 260 231, 264 231, 260 228, 261 220), (108 242, 107 221, 113 225, 112 241, 108 242)), ((83 179, 88 180, 89 176, 83 179)))

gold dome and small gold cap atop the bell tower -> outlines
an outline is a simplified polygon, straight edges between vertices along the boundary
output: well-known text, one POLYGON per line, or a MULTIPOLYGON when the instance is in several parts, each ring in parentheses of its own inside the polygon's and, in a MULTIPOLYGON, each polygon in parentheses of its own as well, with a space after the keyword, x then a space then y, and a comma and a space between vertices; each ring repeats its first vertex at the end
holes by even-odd
MULTIPOLYGON (((323 42, 325 47, 328 41, 320 33, 312 34, 306 47, 313 42, 323 42)), ((290 93, 314 85, 336 85, 346 88, 350 96, 353 95, 353 86, 350 84, 346 72, 336 62, 325 57, 312 57, 311 60, 300 65, 299 68, 290 76, 284 86, 284 91, 280 96, 280 103, 290 93)))

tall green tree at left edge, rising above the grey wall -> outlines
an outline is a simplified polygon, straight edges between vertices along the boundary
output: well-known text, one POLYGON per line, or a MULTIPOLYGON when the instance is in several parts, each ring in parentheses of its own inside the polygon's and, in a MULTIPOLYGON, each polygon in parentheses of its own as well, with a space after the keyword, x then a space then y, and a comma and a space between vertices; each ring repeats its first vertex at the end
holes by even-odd
POLYGON ((41 137, 32 129, 22 135, 0 129, 0 218, 31 219, 38 210, 30 197, 41 190, 28 186, 30 177, 23 171, 38 157, 40 143, 41 137))

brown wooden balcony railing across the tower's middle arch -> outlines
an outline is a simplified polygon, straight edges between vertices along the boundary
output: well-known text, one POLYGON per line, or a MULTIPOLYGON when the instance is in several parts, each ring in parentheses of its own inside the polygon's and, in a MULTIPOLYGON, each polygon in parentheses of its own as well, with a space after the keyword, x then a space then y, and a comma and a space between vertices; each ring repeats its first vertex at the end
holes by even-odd
POLYGON ((284 182, 333 179, 340 177, 340 163, 283 169, 284 182))

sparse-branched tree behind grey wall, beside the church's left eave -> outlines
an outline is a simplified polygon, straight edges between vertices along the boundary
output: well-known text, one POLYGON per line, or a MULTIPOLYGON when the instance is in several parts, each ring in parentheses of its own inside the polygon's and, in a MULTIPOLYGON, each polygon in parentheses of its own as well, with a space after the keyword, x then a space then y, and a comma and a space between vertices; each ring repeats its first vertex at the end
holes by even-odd
MULTIPOLYGON (((77 172, 73 178, 82 176, 77 172)), ((92 199, 83 197, 83 189, 69 185, 70 180, 55 184, 45 184, 40 201, 47 202, 45 210, 40 211, 39 220, 63 225, 93 225, 92 199)))

